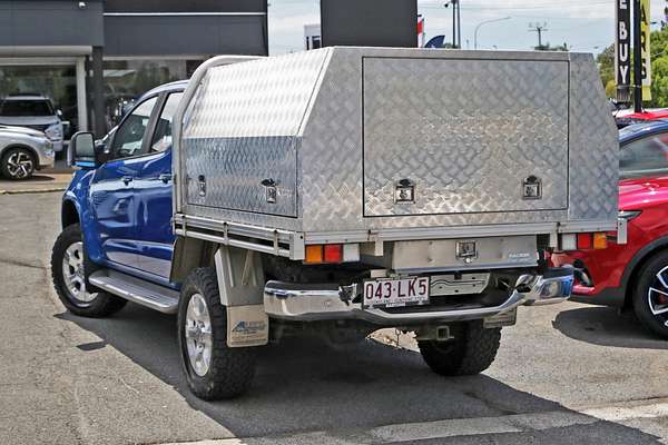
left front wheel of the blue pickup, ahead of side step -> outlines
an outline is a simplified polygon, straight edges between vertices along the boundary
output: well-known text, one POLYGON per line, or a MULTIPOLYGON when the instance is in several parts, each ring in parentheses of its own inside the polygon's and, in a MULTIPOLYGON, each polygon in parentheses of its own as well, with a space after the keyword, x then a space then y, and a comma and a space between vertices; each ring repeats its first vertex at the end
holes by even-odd
POLYGON ((51 278, 58 298, 70 313, 101 318, 126 305, 127 300, 87 285, 86 271, 96 268, 86 255, 79 225, 66 227, 51 251, 51 278))

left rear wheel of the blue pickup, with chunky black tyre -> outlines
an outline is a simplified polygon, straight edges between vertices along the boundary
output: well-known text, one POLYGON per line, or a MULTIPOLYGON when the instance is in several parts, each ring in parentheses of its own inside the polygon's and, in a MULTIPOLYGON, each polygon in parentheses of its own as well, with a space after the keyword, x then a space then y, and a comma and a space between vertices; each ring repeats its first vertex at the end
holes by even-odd
POLYGON ((204 400, 237 397, 255 375, 255 348, 227 346, 227 313, 213 268, 195 269, 181 288, 178 347, 193 394, 204 400))

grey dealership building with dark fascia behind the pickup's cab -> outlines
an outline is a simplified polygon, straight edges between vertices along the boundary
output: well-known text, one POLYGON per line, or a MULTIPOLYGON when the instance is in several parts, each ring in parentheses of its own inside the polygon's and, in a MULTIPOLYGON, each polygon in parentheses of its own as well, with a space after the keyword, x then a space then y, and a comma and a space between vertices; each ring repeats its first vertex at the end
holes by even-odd
POLYGON ((102 135, 214 55, 267 55, 266 0, 0 0, 0 97, 48 96, 102 135))

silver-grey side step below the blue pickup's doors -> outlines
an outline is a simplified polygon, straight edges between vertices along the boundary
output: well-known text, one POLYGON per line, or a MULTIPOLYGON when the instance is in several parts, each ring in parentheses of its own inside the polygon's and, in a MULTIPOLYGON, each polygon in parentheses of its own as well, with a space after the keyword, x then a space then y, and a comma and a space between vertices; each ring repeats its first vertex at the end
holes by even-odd
POLYGON ((179 294, 174 289, 109 269, 97 270, 88 279, 92 285, 109 294, 164 314, 176 314, 178 312, 179 294))

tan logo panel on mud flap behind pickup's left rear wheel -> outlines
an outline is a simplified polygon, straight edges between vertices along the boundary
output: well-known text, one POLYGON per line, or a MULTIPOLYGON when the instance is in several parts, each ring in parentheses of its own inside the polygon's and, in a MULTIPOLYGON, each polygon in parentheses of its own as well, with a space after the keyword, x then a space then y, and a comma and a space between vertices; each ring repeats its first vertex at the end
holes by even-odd
POLYGON ((269 342, 269 319, 263 305, 227 308, 227 346, 264 346, 269 342))

